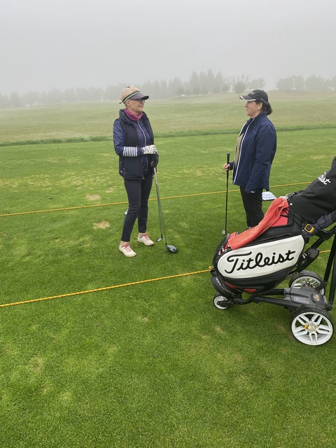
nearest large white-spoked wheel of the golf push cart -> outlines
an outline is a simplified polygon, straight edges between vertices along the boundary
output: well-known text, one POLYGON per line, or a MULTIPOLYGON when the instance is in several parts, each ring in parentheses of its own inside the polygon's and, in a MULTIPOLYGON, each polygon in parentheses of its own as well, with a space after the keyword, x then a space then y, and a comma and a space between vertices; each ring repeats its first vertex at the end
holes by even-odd
POLYGON ((290 330, 302 344, 322 345, 331 339, 334 324, 328 311, 320 307, 300 307, 292 313, 290 330))

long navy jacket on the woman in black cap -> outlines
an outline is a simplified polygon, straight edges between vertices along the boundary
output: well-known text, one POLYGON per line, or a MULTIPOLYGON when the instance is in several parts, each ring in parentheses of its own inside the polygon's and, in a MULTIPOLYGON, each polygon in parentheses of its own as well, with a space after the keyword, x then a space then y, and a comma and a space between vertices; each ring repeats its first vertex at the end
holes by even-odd
POLYGON ((239 160, 230 163, 233 167, 232 181, 245 187, 246 193, 255 188, 269 190, 269 174, 276 152, 276 132, 265 112, 246 121, 239 135, 241 139, 239 160))

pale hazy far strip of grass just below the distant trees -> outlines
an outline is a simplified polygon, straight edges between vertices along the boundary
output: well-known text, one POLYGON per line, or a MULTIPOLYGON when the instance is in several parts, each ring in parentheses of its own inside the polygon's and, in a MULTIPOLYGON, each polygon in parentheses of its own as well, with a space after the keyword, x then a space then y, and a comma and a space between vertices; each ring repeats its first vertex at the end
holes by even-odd
MULTIPOLYGON (((335 92, 269 92, 277 130, 332 127, 336 123, 335 92)), ((70 141, 111 138, 120 104, 83 102, 21 109, 0 109, 0 144, 25 141, 70 141)), ((239 132, 246 117, 237 94, 148 100, 155 137, 239 132)))

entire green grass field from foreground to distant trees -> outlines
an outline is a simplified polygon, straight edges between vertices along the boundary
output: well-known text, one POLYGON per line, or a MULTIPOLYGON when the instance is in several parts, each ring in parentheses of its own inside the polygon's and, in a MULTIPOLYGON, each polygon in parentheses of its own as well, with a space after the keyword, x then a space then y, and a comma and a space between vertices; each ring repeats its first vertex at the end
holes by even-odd
MULTIPOLYGON (((336 93, 269 92, 271 192, 335 156, 336 93)), ((118 251, 115 102, 0 110, 0 447, 333 447, 336 339, 300 344, 270 304, 214 307, 235 94, 148 100, 165 241, 118 251), (331 417, 331 418, 330 418, 331 417)), ((265 210, 270 202, 265 202, 265 210)), ((230 180, 228 232, 246 228, 230 180)), ((148 233, 160 236, 155 186, 148 233)), ((330 241, 309 270, 323 276, 330 241)), ((328 295, 328 293, 327 293, 328 295)), ((330 311, 335 320, 335 311, 330 311)))

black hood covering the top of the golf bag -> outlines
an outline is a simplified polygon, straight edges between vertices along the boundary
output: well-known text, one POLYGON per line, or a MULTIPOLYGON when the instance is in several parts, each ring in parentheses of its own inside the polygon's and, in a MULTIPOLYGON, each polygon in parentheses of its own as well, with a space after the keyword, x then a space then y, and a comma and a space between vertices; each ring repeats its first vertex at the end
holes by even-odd
POLYGON ((289 209, 300 216, 302 235, 309 238, 336 222, 336 157, 330 169, 309 186, 286 196, 289 209))

